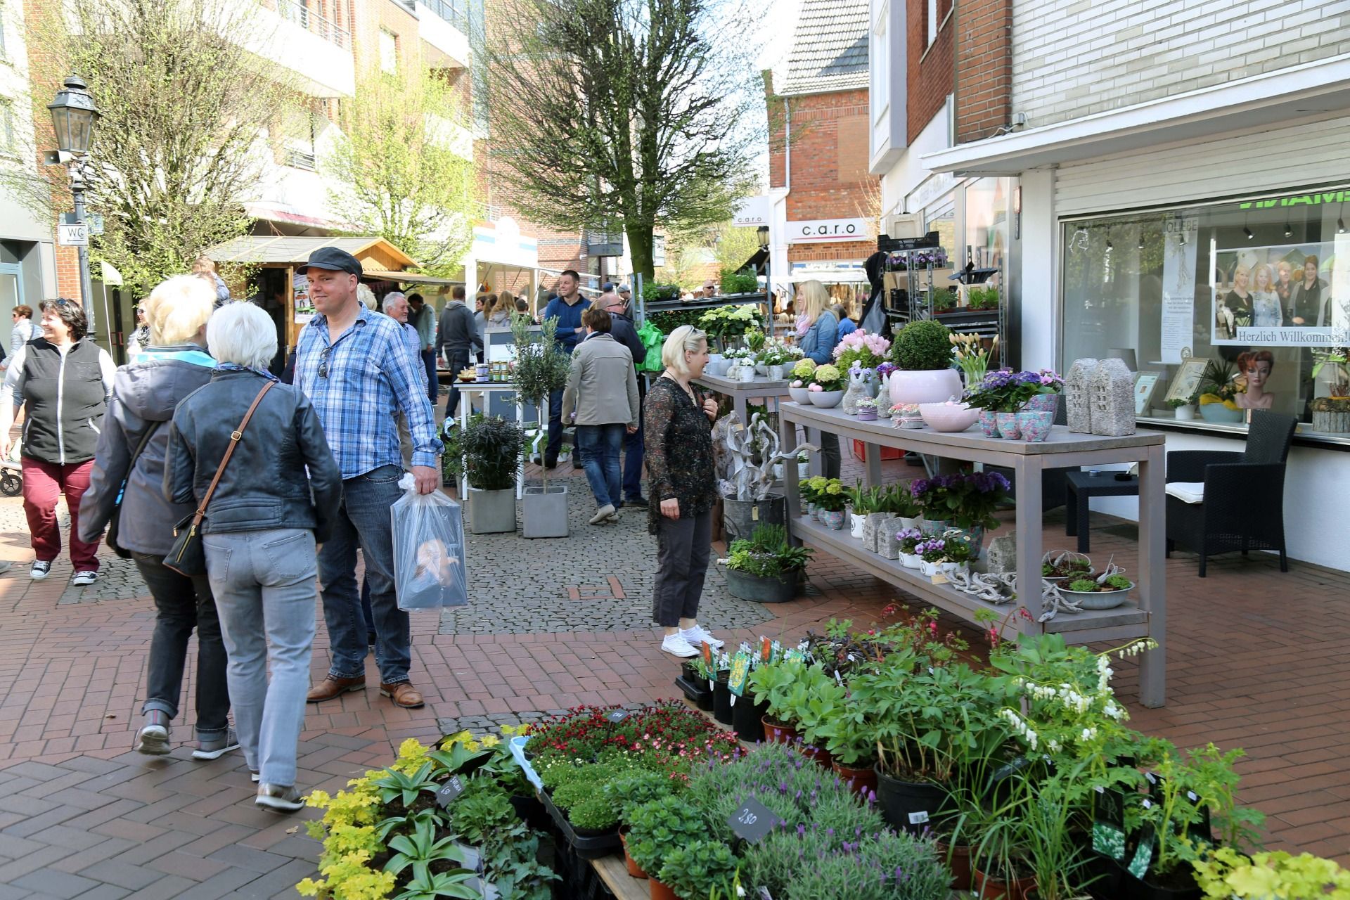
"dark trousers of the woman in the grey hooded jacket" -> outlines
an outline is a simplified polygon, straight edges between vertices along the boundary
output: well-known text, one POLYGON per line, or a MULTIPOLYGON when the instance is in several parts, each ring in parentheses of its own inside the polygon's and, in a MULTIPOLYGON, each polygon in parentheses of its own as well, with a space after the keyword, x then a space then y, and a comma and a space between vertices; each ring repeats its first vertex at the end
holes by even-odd
POLYGON ((188 638, 197 629, 197 738, 225 737, 230 729, 225 644, 220 637, 211 582, 205 575, 180 575, 163 564, 162 556, 131 556, 155 600, 155 630, 150 637, 150 671, 142 710, 159 710, 170 719, 178 718, 188 638))

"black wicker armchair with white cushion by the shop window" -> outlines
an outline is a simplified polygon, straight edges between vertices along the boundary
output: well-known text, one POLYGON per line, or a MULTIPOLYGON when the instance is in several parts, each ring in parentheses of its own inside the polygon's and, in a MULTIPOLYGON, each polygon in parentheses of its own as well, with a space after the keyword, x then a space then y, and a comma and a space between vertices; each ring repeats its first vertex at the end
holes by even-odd
MULTIPOLYGON (((1200 553, 1200 578, 1214 553, 1250 549, 1280 552, 1280 571, 1289 571, 1284 551, 1284 467, 1297 418, 1256 410, 1242 453, 1172 451, 1168 453, 1168 555, 1181 545, 1200 553), (1203 483, 1203 501, 1173 494, 1179 482, 1203 483)), ((1179 493, 1181 493, 1179 490, 1179 493)))

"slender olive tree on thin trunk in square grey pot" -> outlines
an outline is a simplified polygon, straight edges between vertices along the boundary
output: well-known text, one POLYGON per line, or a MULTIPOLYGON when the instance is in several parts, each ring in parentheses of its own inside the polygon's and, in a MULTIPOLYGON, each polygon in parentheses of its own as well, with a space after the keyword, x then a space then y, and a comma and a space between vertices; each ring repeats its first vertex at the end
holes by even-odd
MULTIPOLYGON (((516 343, 516 389, 521 399, 539 410, 543 428, 548 395, 567 385, 571 367, 567 355, 554 343, 558 317, 545 318, 539 332, 522 316, 513 320, 510 328, 516 343)), ((541 486, 528 486, 521 502, 525 537, 567 537, 567 486, 549 486, 547 468, 541 468, 540 474, 541 486)))

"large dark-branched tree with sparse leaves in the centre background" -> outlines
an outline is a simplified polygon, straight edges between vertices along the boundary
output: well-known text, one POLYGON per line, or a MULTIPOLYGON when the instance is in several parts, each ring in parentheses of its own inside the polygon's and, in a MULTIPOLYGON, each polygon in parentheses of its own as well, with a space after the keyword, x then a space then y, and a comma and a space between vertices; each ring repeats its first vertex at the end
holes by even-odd
MULTIPOLYGON (((756 8, 725 0, 501 0, 478 54, 513 202, 556 228, 716 225, 753 186, 756 8)), ((667 251, 670 256, 670 251, 667 251)))

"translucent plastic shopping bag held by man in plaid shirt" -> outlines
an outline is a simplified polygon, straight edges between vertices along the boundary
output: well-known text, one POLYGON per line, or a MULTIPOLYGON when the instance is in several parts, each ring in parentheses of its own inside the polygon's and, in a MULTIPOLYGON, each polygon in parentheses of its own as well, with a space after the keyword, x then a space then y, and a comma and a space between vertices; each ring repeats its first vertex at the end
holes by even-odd
POLYGON ((440 491, 418 494, 413 476, 398 479, 404 495, 390 507, 394 526, 394 591, 401 610, 468 603, 464 519, 440 491))

